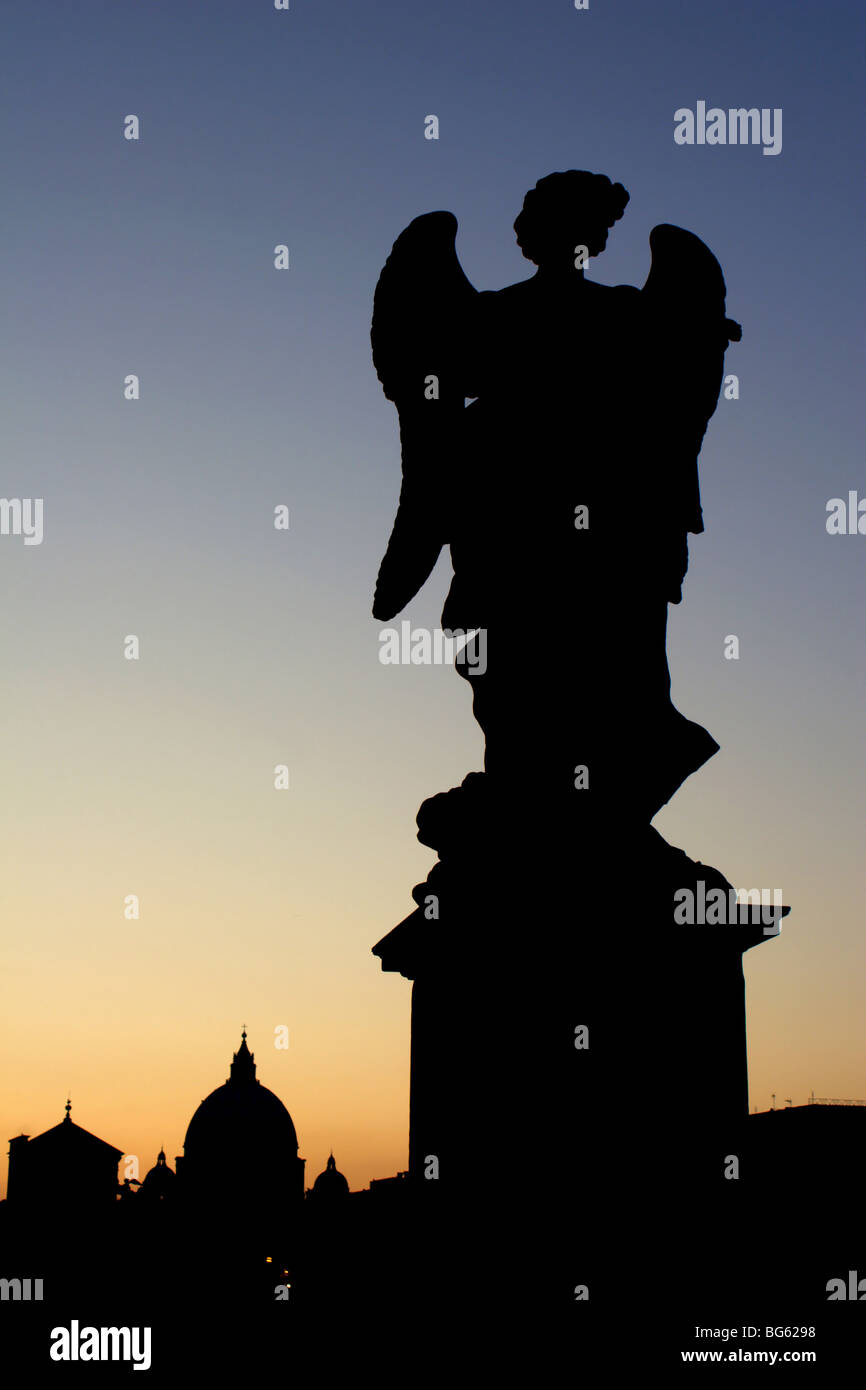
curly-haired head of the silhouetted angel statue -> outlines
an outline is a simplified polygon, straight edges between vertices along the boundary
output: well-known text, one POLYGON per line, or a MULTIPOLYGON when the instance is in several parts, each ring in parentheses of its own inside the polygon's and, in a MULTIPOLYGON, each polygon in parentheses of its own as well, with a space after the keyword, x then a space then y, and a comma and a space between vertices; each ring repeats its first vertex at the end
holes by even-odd
POLYGON ((626 211, 628 193, 605 174, 567 170, 548 174, 530 189, 517 214, 517 245, 535 265, 574 265, 575 247, 599 256, 607 231, 626 211))

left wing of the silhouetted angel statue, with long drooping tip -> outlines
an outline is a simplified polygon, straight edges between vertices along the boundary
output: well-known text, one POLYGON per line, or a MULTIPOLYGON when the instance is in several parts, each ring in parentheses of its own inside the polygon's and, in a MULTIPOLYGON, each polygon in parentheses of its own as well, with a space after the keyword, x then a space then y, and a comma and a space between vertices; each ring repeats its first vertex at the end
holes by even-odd
POLYGON ((400 420, 403 484, 379 566, 373 616, 388 621, 416 596, 448 541, 448 478, 467 395, 466 329, 478 291, 466 278, 453 213, 425 213, 400 232, 373 300, 373 363, 400 420))

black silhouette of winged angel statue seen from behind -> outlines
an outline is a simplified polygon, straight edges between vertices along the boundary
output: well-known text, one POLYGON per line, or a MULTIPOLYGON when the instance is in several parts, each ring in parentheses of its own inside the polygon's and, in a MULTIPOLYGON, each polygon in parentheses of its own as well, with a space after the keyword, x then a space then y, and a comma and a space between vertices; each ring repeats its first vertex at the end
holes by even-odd
POLYGON ((403 484, 373 613, 402 612, 449 545, 442 626, 481 630, 457 670, 488 795, 587 790, 594 816, 646 823, 719 748, 671 703, 667 605, 703 530, 698 453, 741 328, 719 261, 680 227, 651 232, 642 289, 587 278, 627 203, 603 174, 539 179, 514 222, 537 271, 499 291, 468 282, 452 213, 395 242, 371 342, 403 484))

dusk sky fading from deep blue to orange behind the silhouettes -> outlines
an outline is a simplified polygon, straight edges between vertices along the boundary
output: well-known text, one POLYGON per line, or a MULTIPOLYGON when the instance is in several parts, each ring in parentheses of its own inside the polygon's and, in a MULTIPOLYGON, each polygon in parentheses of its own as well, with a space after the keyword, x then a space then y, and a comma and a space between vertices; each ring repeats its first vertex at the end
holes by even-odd
MULTIPOLYGON (((1 491, 44 499, 44 539, 0 537, 0 1137, 70 1093, 143 1176, 246 1022, 309 1177, 331 1147, 353 1187, 406 1166, 410 987, 370 948, 432 863, 418 803, 481 734, 453 671, 378 660, 399 441, 373 291, 441 207, 474 285, 525 278, 512 224, 560 168, 631 193, 594 278, 642 284, 678 222, 744 325, 670 621, 674 701, 721 752, 656 824, 792 905, 746 956, 752 1105, 866 1097, 866 537, 824 524, 866 495, 863 36, 853 0, 10 7, 1 491), (781 154, 674 145, 698 100, 781 107, 781 154)), ((648 474, 624 535, 652 507, 648 474)), ((443 559, 403 616, 436 626, 446 587, 443 559)), ((531 1088, 517 1068, 518 1111, 531 1088)))

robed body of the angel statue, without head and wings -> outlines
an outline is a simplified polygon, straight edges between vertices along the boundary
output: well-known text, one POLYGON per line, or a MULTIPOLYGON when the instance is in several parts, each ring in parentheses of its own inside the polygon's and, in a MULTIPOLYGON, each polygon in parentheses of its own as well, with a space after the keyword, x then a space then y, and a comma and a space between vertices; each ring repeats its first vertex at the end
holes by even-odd
POLYGON ((455 578, 445 628, 481 627, 459 666, 503 788, 648 819, 716 752, 670 701, 669 600, 702 530, 695 459, 670 432, 641 292, 539 272, 475 297, 475 396, 449 460, 455 578))

